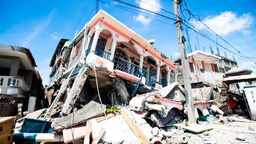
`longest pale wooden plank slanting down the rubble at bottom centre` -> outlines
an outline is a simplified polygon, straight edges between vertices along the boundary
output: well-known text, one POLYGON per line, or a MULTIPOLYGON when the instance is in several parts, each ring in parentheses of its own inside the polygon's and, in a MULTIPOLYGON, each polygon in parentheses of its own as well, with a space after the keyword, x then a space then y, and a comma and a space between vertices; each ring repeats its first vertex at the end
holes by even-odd
POLYGON ((134 134, 138 137, 141 143, 150 143, 146 135, 142 132, 140 127, 133 121, 133 118, 129 115, 125 107, 121 109, 121 115, 125 119, 126 123, 130 126, 134 134))

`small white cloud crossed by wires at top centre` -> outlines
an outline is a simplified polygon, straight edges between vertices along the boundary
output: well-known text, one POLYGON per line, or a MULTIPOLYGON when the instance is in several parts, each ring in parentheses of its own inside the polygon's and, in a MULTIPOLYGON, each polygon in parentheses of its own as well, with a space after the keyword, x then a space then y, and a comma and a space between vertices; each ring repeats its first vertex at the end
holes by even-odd
MULTIPOLYGON (((148 1, 136 0, 135 2, 139 4, 140 8, 146 9, 155 13, 159 12, 160 9, 162 8, 162 5, 160 4, 159 0, 148 0, 148 1)), ((149 16, 149 17, 153 17, 153 16, 149 16)), ((152 21, 152 19, 145 17, 144 15, 142 15, 142 13, 140 13, 137 16, 134 16, 133 19, 137 22, 142 23, 143 25, 149 25, 150 22, 152 21)))

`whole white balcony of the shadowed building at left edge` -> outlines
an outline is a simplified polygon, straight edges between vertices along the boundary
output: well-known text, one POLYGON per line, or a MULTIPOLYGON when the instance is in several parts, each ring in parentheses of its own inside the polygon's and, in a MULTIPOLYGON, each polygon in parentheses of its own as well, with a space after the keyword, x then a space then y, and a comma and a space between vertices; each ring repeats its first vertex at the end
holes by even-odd
POLYGON ((0 92, 11 94, 19 98, 25 98, 30 86, 21 77, 0 76, 0 92))

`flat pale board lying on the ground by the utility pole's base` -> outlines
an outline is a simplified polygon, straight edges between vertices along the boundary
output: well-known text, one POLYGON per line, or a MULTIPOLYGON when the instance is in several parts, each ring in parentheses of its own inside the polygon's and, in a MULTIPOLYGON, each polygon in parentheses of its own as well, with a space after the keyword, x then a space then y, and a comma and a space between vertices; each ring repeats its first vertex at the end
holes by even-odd
POLYGON ((179 124, 174 124, 173 126, 180 126, 182 129, 195 132, 195 133, 201 133, 204 131, 209 131, 212 130, 212 127, 204 126, 204 125, 199 125, 199 124, 194 124, 194 123, 188 123, 188 125, 184 123, 179 123, 179 124))

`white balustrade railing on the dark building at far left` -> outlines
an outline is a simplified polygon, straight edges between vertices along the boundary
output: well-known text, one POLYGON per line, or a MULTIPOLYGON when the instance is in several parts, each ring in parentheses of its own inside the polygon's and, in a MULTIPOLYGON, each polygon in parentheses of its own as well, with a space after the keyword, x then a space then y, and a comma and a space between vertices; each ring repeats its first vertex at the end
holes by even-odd
POLYGON ((7 89, 9 87, 19 87, 26 92, 30 90, 30 85, 21 77, 0 76, 0 93, 8 94, 7 89))

